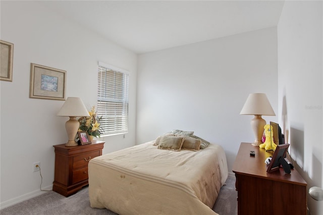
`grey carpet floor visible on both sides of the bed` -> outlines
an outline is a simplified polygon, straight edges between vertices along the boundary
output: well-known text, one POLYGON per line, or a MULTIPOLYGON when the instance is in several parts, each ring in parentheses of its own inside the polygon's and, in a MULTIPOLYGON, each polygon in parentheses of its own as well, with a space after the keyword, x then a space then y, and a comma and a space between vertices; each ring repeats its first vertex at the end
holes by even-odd
MULTIPOLYGON (((213 210, 220 215, 237 214, 237 191, 235 178, 228 178, 226 185, 220 190, 213 210)), ((28 199, 18 204, 0 210, 1 215, 115 215, 108 209, 91 208, 88 196, 88 186, 76 194, 64 197, 54 191, 28 199)))

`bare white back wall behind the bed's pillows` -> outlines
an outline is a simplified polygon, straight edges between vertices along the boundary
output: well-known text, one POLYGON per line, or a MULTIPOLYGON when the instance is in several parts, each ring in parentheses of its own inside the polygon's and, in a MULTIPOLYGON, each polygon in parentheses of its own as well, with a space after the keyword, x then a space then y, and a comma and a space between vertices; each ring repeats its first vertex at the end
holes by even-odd
POLYGON ((254 140, 253 116, 239 115, 247 96, 266 93, 277 113, 277 89, 275 27, 140 55, 137 143, 194 131, 224 147, 232 173, 240 142, 254 140))

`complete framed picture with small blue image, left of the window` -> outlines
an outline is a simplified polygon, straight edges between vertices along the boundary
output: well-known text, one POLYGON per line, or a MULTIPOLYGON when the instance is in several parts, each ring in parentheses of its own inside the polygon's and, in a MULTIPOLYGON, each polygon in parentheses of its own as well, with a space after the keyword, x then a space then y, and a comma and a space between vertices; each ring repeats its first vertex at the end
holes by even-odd
POLYGON ((31 63, 29 97, 65 100, 66 71, 31 63))

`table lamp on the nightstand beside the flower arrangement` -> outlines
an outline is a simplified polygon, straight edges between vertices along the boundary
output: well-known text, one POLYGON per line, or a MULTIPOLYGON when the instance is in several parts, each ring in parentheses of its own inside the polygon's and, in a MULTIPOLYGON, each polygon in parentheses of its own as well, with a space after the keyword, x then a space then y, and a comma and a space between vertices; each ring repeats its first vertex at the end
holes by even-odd
POLYGON ((77 134, 77 131, 79 130, 80 123, 78 120, 76 120, 76 117, 90 116, 85 108, 82 99, 78 97, 68 97, 57 116, 70 117, 70 120, 65 123, 66 133, 69 137, 69 141, 65 145, 78 145, 75 141, 75 136, 77 134))

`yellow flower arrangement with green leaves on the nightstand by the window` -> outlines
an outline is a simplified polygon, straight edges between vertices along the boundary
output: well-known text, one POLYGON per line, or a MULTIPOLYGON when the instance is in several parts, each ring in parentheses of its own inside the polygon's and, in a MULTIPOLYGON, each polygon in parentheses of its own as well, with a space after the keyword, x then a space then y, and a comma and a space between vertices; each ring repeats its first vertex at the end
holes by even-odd
POLYGON ((86 131, 88 135, 91 135, 93 137, 100 137, 100 135, 102 134, 102 128, 100 128, 100 120, 102 119, 102 116, 97 116, 95 105, 92 106, 91 110, 89 111, 89 115, 89 117, 81 117, 79 119, 79 131, 86 131))

